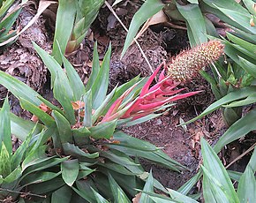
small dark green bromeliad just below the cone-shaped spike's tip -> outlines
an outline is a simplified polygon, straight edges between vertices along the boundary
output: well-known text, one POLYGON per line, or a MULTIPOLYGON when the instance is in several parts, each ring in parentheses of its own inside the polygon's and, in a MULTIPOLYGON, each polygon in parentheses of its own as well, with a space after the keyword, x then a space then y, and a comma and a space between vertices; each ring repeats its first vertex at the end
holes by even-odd
MULTIPOLYGON (((249 66, 247 66, 250 68, 249 66)), ((223 97, 226 98, 232 92, 237 94, 245 92, 249 86, 252 86, 253 80, 255 79, 251 74, 245 71, 239 64, 230 61, 229 64, 216 63, 212 66, 214 77, 207 74, 205 71, 201 71, 201 75, 207 79, 210 83, 215 98, 221 100, 223 97)), ((252 97, 248 95, 248 97, 252 97)), ((236 101, 237 99, 234 98, 236 101)), ((222 119, 227 127, 237 122, 242 117, 242 111, 245 105, 251 102, 240 102, 237 105, 231 104, 228 106, 222 106, 222 119)))

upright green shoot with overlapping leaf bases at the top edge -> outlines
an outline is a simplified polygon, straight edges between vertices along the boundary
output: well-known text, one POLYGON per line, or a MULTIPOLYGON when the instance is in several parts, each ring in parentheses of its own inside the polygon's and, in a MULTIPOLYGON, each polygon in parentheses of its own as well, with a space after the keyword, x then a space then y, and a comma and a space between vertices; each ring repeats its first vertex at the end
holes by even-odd
POLYGON ((52 52, 58 63, 62 62, 61 54, 68 55, 79 48, 102 4, 104 0, 58 1, 52 52))

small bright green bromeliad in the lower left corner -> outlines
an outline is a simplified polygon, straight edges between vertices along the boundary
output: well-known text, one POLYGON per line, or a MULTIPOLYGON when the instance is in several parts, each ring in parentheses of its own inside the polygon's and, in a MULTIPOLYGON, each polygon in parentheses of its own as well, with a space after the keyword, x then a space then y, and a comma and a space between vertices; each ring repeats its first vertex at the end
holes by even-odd
POLYGON ((68 157, 49 157, 46 154, 48 146, 42 143, 45 131, 40 132, 41 124, 34 124, 28 132, 33 123, 11 114, 7 99, 0 110, 0 120, 0 199, 9 202, 21 200, 21 197, 45 199, 45 193, 64 185, 61 172, 56 167, 68 157), (11 132, 15 132, 15 128, 20 131, 19 135, 27 134, 16 152, 12 153, 11 132), (36 139, 33 134, 37 134, 36 139), (31 185, 36 193, 26 192, 31 185))

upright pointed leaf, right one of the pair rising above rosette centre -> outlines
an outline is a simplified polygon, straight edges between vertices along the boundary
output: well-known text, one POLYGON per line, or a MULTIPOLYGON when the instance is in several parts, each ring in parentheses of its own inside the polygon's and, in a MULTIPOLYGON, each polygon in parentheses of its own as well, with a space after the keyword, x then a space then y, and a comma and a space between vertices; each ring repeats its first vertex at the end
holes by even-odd
POLYGON ((109 49, 104 56, 102 67, 97 74, 96 79, 94 80, 94 84, 91 87, 92 96, 93 96, 93 109, 98 109, 102 102, 104 101, 108 86, 109 86, 109 62, 111 55, 111 45, 109 44, 109 49))

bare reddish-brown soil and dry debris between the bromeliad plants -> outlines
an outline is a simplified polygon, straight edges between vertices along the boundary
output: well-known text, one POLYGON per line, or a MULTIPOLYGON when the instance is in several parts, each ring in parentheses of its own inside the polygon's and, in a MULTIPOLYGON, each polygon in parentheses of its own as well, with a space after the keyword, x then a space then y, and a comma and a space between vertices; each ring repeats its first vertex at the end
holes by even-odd
MULTIPOLYGON (((133 3, 130 3, 130 1, 127 1, 128 3, 124 2, 116 8, 116 11, 124 25, 129 26, 133 14, 139 8, 139 4, 136 1, 133 1, 133 3)), ((25 26, 26 20, 32 18, 33 15, 33 9, 23 10, 19 17, 20 25, 25 26)), ((51 26, 52 24, 50 25, 48 20, 41 17, 34 26, 31 26, 25 34, 19 37, 18 41, 5 49, 0 56, 0 70, 26 82, 26 84, 47 97, 50 97, 49 73, 41 59, 35 54, 28 39, 33 39, 43 49, 49 51, 53 40, 51 26), (28 35, 29 37, 27 37, 28 35)), ((113 14, 103 7, 98 18, 94 21, 91 34, 83 42, 83 46, 72 56, 69 56, 85 84, 92 66, 94 41, 98 41, 98 51, 101 59, 109 46, 109 41, 111 41, 109 89, 117 84, 123 84, 138 74, 141 74, 141 76, 150 75, 151 70, 137 45, 132 44, 124 57, 120 59, 125 36, 124 28, 114 19, 113 14)), ((188 47, 187 41, 185 30, 173 29, 163 25, 150 27, 139 38, 139 44, 154 68, 161 64, 163 60, 168 60, 170 56, 186 49, 188 47)), ((185 84, 185 86, 187 91, 202 90, 203 92, 182 102, 177 102, 177 105, 162 117, 124 129, 124 132, 136 138, 147 140, 157 147, 163 147, 166 154, 187 167, 188 170, 177 173, 142 161, 147 171, 153 169, 154 177, 171 189, 179 188, 199 169, 200 137, 203 136, 209 142, 214 143, 225 131, 225 125, 220 119, 220 111, 216 111, 193 124, 177 127, 182 120, 188 121, 199 115, 203 109, 206 109, 215 100, 209 85, 200 77, 192 80, 190 84, 185 84)), ((4 99, 6 91, 4 91, 3 86, 0 88, 0 99, 4 99)), ((16 114, 22 114, 22 109, 17 106, 15 101, 12 102, 12 109, 16 109, 14 110, 16 114)))

